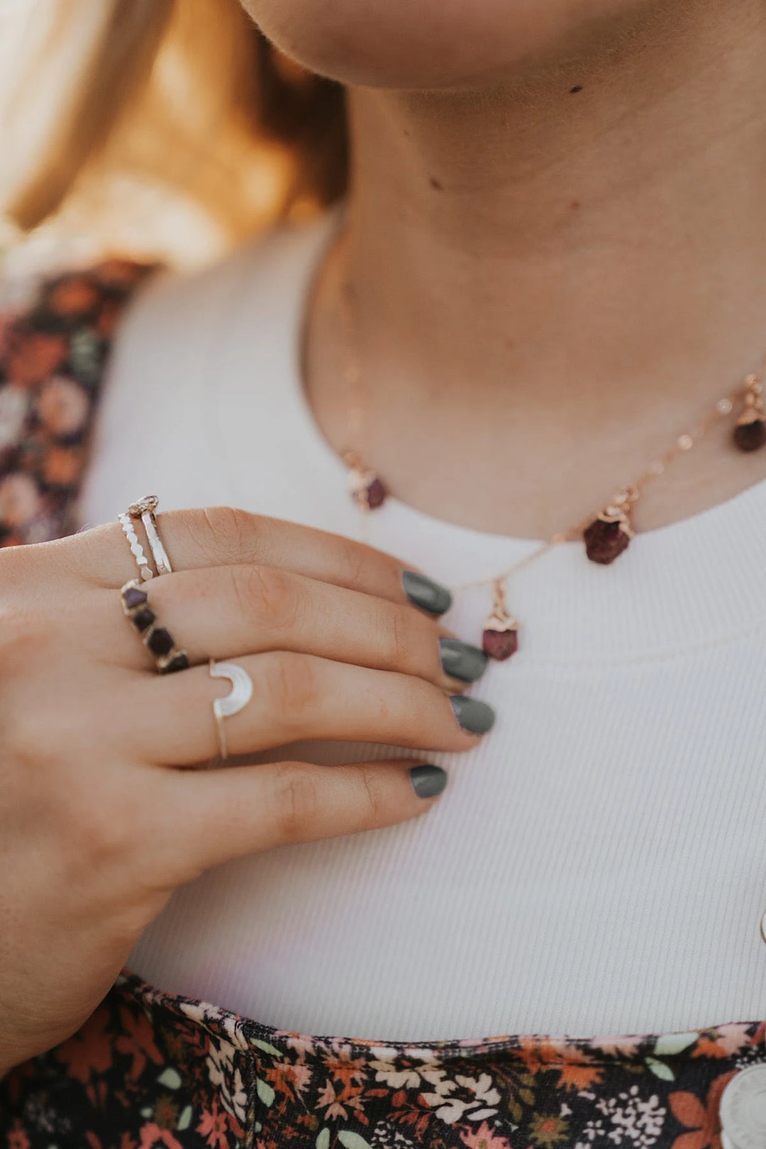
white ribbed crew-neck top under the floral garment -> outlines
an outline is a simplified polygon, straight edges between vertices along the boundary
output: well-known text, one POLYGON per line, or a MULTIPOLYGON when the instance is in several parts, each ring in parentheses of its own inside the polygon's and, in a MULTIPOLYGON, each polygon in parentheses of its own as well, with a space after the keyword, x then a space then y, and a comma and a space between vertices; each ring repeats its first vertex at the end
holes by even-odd
MULTIPOLYGON (((85 522, 150 489, 164 509, 230 503, 356 534, 345 466, 297 371, 327 228, 283 232, 139 302, 85 522)), ((534 546, 397 500, 370 525, 374 546, 448 585, 534 546)), ((266 1025, 389 1041, 766 1016, 766 484, 640 534, 612 568, 559 547, 509 600, 521 649, 473 688, 497 724, 471 754, 428 756, 450 785, 426 818, 210 871, 129 966, 266 1025)), ((486 589, 465 592, 446 620, 475 642, 487 608, 486 589)))

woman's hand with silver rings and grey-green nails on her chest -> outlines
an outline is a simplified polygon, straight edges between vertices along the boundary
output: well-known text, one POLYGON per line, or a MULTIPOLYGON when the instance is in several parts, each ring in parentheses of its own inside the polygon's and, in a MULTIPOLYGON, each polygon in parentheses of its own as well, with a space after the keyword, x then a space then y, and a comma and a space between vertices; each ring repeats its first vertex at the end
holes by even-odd
POLYGON ((175 573, 144 588, 193 663, 168 676, 123 614, 137 570, 118 524, 0 552, 0 1073, 82 1025, 176 886, 433 804, 413 761, 179 769, 218 753, 229 684, 209 658, 253 679, 225 719, 230 754, 297 739, 467 750, 492 725, 459 694, 483 656, 413 606, 449 596, 408 576, 408 597, 390 556, 229 509, 160 529, 175 573))

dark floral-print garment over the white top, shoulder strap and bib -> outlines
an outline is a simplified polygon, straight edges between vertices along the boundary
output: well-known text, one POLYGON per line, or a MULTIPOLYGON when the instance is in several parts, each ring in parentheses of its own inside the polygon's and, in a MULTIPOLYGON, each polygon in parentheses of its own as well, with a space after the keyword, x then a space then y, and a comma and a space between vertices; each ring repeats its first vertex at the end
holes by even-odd
MULTIPOLYGON (((73 529, 110 339, 152 268, 113 260, 0 323, 0 545, 73 529)), ((71 1038, 0 1081, 6 1149, 721 1149, 765 1025, 575 1040, 288 1033, 123 970, 71 1038)))

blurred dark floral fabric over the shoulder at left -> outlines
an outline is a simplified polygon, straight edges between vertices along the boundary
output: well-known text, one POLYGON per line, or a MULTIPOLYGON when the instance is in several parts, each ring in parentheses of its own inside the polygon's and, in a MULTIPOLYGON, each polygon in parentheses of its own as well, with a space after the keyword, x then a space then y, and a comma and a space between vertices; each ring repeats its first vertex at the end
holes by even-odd
POLYGON ((153 270, 108 260, 47 282, 26 314, 0 318, 0 546, 73 529, 110 341, 153 270))

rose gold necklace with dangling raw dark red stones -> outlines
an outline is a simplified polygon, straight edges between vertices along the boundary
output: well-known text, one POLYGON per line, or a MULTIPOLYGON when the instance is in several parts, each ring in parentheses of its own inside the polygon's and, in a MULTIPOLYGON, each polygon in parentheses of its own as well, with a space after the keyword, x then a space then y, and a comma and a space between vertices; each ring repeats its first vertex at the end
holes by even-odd
MULTIPOLYGON (((348 468, 348 488, 361 514, 359 537, 366 541, 369 515, 382 507, 388 492, 381 477, 366 465, 361 450, 365 440, 362 370, 355 338, 354 295, 348 279, 343 282, 341 300, 346 347, 343 377, 349 396, 349 447, 343 452, 342 458, 348 468)), ((742 452, 758 450, 766 445, 763 372, 745 376, 732 391, 718 399, 691 430, 678 435, 664 455, 651 462, 634 483, 620 487, 602 510, 588 515, 567 530, 557 532, 506 570, 490 578, 477 579, 473 583, 463 583, 451 587, 452 592, 480 586, 492 589, 492 608, 485 619, 481 634, 483 653, 490 658, 503 662, 518 649, 520 624, 511 615, 506 602, 506 585, 511 576, 542 558, 560 543, 577 540, 585 543, 585 552, 590 562, 604 566, 613 563, 627 550, 630 540, 635 537, 630 511, 645 487, 664 475, 679 456, 688 454, 711 427, 732 415, 737 407, 740 415, 732 434, 733 445, 742 452)))

